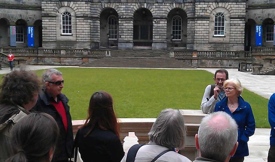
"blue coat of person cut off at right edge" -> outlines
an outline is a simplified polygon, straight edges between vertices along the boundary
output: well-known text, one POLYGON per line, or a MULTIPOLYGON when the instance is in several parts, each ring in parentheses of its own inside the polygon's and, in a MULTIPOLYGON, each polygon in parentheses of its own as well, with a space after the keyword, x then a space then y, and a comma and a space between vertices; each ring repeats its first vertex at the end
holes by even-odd
POLYGON ((271 95, 268 102, 268 121, 271 126, 270 146, 275 145, 275 93, 271 95))

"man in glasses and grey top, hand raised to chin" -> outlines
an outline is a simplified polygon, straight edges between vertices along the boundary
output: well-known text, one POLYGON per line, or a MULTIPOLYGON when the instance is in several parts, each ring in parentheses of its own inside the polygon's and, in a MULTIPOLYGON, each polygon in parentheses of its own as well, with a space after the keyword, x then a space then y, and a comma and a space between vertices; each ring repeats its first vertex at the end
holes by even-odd
POLYGON ((228 71, 225 69, 217 70, 213 79, 215 84, 207 85, 201 100, 201 110, 205 114, 211 113, 216 103, 225 97, 223 82, 228 79, 228 71))

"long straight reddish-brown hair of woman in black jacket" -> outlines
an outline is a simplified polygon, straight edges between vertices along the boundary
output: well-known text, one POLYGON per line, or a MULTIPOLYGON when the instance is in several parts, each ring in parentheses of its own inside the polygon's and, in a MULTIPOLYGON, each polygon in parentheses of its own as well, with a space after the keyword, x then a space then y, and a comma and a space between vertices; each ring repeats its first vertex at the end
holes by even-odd
POLYGON ((119 137, 119 124, 113 109, 113 98, 109 93, 105 91, 93 93, 90 99, 88 118, 82 128, 86 126, 90 127, 86 136, 91 133, 93 128, 99 127, 111 130, 119 137))

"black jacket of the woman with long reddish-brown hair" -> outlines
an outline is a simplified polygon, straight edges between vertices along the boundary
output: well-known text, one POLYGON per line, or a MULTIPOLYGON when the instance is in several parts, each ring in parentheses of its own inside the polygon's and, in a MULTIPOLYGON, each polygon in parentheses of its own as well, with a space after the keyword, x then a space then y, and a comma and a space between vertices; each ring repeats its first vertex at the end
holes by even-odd
POLYGON ((124 156, 118 136, 110 130, 81 128, 75 139, 83 162, 120 162, 124 156), (85 137, 86 136, 86 137, 85 137))

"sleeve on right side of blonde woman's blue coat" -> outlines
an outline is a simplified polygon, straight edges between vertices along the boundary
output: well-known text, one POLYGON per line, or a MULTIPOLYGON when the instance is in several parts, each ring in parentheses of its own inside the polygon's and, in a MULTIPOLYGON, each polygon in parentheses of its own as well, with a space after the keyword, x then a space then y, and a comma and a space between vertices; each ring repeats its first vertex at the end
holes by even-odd
POLYGON ((246 107, 248 109, 248 114, 246 117, 246 127, 243 133, 241 134, 241 140, 247 142, 249 140, 248 137, 252 136, 255 132, 255 118, 251 109, 251 106, 248 102, 246 102, 246 107))

